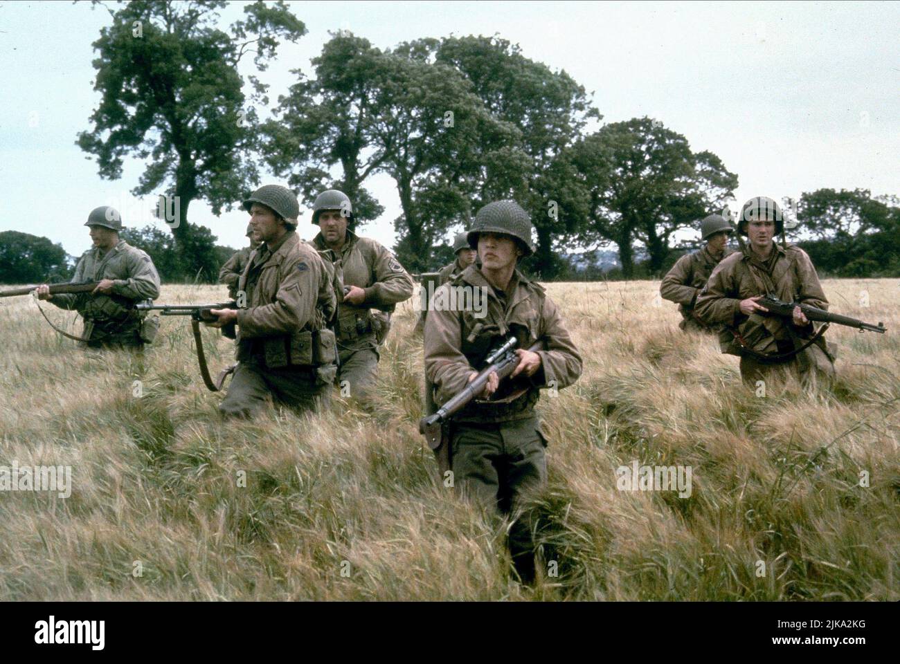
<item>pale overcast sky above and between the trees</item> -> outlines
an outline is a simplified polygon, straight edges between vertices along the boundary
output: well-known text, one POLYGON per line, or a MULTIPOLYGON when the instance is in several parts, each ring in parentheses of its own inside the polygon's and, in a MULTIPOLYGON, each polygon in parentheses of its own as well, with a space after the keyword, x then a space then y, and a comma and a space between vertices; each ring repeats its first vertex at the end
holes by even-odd
MULTIPOLYGON (((900 193, 896 2, 289 4, 309 33, 283 44, 266 72, 273 101, 293 83, 290 69, 311 73, 329 30, 353 31, 381 48, 498 33, 584 85, 603 122, 648 115, 693 150, 715 152, 739 176, 739 202, 822 187, 900 193)), ((223 28, 243 5, 222 13, 223 28)), ((126 161, 121 180, 105 181, 75 144, 100 99, 91 43, 109 23, 88 3, 0 3, 0 230, 46 236, 74 256, 90 246, 82 224, 98 205, 119 208, 128 226, 152 222, 148 203, 128 193, 141 163, 126 161)), ((368 186, 386 210, 362 232, 391 247, 396 190, 386 176, 368 186)), ((244 244, 243 211, 216 218, 193 202, 190 219, 220 244, 244 244)), ((318 230, 308 220, 304 211, 304 238, 318 230)))

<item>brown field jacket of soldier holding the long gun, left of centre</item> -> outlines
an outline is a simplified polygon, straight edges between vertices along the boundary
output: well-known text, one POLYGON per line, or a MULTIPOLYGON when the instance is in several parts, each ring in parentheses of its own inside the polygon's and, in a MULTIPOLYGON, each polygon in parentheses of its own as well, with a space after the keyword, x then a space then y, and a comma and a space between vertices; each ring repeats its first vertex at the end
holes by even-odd
POLYGON ((334 361, 329 271, 296 231, 251 253, 238 291, 247 293, 247 308, 238 309, 238 361, 253 358, 270 369, 334 361))

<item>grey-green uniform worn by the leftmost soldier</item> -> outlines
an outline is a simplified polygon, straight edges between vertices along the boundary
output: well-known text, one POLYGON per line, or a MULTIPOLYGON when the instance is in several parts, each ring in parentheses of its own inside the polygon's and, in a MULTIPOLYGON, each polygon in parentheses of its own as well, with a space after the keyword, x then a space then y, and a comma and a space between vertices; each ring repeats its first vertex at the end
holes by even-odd
POLYGON ((86 345, 142 348, 156 333, 156 317, 150 320, 134 310, 137 301, 159 297, 159 274, 150 256, 119 240, 103 251, 88 249, 78 260, 72 283, 112 279, 112 293, 60 293, 49 300, 61 309, 77 310, 85 319, 86 345))

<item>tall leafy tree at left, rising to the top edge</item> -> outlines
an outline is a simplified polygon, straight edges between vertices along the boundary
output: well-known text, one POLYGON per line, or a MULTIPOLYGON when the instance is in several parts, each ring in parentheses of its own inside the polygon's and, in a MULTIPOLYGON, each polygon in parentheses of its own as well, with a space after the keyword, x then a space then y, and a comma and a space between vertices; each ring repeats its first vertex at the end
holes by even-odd
MULTIPOLYGON (((253 150, 257 113, 242 90, 238 63, 254 53, 258 71, 275 57, 278 38, 296 41, 306 28, 281 0, 247 4, 229 33, 215 22, 224 2, 174 4, 135 0, 109 10, 112 25, 94 41, 99 57, 94 89, 102 94, 94 127, 77 144, 93 155, 106 179, 121 177, 126 156, 144 160, 134 195, 166 188, 167 219, 180 255, 179 277, 215 276, 209 230, 188 223, 191 202, 205 200, 215 214, 231 209, 256 183, 253 150)), ((248 76, 251 103, 268 103, 266 85, 248 76)), ((213 238, 214 239, 214 238, 213 238)))

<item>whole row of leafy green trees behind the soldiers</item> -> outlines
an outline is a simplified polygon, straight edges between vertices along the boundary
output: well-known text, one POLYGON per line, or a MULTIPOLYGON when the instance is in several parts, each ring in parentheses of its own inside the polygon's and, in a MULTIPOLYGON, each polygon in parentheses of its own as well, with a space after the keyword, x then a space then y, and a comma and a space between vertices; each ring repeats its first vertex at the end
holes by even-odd
MULTIPOLYGON (((141 159, 135 195, 178 198, 171 236, 149 227, 126 236, 166 281, 214 280, 223 252, 209 229, 188 223, 191 203, 230 210, 263 169, 307 205, 343 190, 356 225, 383 213, 367 184, 390 176, 401 203, 393 249, 411 272, 446 262, 444 238, 484 203, 514 198, 536 229, 527 268, 545 280, 578 274, 567 252, 600 247, 616 248, 617 276, 658 276, 677 257, 678 231, 734 197, 737 175, 715 154, 651 118, 599 126, 582 85, 496 36, 378 49, 338 31, 272 106, 257 75, 306 27, 284 3, 257 2, 221 29, 224 6, 131 2, 108 10, 112 23, 93 44, 101 102, 77 144, 104 178, 121 177, 124 157, 141 159), (250 53, 256 71, 242 75, 250 53), (257 109, 270 106, 262 120, 257 109)), ((877 237, 896 238, 895 199, 820 190, 797 210, 820 269, 885 268, 877 237)))

